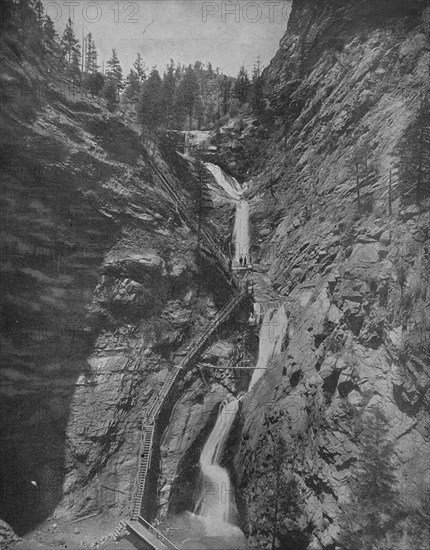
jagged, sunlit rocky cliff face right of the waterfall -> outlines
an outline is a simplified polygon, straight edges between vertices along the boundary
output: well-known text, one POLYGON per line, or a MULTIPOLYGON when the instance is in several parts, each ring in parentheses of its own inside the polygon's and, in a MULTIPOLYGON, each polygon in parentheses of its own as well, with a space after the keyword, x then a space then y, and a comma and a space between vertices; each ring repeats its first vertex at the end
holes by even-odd
MULTIPOLYGON (((278 522, 282 548, 336 546, 359 426, 375 408, 401 498, 420 505, 428 491, 429 13, 405 4, 295 0, 265 73, 276 121, 252 225, 290 324, 244 401, 236 460, 260 548, 271 544, 261 479, 278 437, 301 503, 278 522), (411 160, 420 147, 427 160, 411 160)), ((424 544, 399 531, 402 548, 424 544)))

